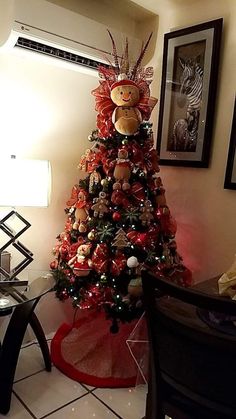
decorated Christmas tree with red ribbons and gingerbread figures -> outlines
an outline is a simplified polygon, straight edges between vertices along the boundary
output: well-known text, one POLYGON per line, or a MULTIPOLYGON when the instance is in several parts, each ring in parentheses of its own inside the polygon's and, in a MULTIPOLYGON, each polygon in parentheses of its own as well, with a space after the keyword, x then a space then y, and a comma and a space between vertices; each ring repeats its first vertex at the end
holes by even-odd
MULTIPOLYGON (((110 34, 111 36, 111 34, 110 34)), ((102 308, 129 321, 142 312, 142 269, 178 284, 191 283, 175 241, 176 223, 166 203, 158 155, 148 122, 151 67, 141 66, 149 40, 131 65, 128 42, 114 65, 99 67, 97 129, 79 169, 87 177, 72 189, 66 223, 51 263, 56 295, 80 308, 102 308)))

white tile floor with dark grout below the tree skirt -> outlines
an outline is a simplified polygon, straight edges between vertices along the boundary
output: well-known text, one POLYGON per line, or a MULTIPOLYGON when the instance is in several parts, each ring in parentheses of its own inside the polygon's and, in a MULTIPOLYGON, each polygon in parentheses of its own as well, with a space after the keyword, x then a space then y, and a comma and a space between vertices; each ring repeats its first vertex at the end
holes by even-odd
MULTIPOLYGON (((50 344, 50 341, 49 341, 50 344)), ((57 370, 44 370, 36 343, 21 349, 10 419, 141 419, 147 388, 102 389, 79 384, 57 370)))

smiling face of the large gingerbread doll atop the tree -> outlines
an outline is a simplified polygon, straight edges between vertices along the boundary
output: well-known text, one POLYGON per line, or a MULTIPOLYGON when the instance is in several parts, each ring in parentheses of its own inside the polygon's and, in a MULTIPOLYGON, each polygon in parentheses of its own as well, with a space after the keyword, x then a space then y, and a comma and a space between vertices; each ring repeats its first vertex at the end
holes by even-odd
POLYGON ((139 102, 139 89, 133 85, 117 86, 111 91, 111 100, 117 106, 135 106, 139 102))

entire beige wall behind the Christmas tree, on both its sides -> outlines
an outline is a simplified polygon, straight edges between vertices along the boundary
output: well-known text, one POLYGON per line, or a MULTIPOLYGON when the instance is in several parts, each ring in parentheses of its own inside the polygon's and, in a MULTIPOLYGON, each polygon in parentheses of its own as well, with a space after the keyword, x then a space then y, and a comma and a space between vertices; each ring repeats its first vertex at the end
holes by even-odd
MULTIPOLYGON (((163 34, 170 28, 224 18, 210 167, 161 167, 168 203, 178 223, 180 253, 197 279, 208 277, 225 270, 236 253, 236 191, 223 189, 235 95, 236 1, 136 0, 136 3, 159 15, 152 60, 155 67, 152 94, 158 98, 163 34)), ((70 4, 76 1, 71 0, 70 4)), ((153 15, 145 15, 146 29, 140 23, 144 32, 150 26, 150 19, 153 20, 153 15)), ((142 21, 139 13, 138 20, 142 21)), ((74 182, 78 181, 77 164, 89 146, 87 136, 95 127, 96 113, 90 91, 97 82, 95 77, 82 76, 29 56, 0 54, 1 154, 3 150, 16 152, 18 156, 49 159, 52 164, 50 207, 21 209, 32 223, 24 240, 35 255, 30 270, 48 269, 55 237, 63 230, 65 202, 74 182)), ((157 114, 158 107, 152 116, 155 131, 157 114)), ((51 295, 40 304, 39 314, 49 332, 63 319, 70 319, 72 310, 51 295)))

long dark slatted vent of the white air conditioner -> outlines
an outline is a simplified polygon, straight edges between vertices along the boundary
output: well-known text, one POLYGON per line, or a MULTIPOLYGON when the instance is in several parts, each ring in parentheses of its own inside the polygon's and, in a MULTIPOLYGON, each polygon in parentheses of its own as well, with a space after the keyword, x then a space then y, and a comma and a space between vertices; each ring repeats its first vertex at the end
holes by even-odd
MULTIPOLYGON (((72 52, 64 51, 62 49, 48 46, 31 39, 19 37, 15 44, 16 47, 24 48, 30 51, 48 55, 54 58, 59 58, 67 62, 78 64, 83 67, 97 69, 101 63, 99 61, 91 60, 89 58, 82 57, 81 55, 73 54, 72 52)), ((103 64, 104 65, 104 64, 103 64)))

